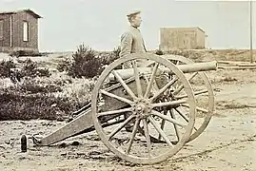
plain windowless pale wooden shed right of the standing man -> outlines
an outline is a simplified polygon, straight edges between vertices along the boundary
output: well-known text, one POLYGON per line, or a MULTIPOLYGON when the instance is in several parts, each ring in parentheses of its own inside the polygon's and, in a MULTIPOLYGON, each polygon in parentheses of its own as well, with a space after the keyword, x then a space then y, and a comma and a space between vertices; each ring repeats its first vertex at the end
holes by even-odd
POLYGON ((160 28, 160 49, 205 48, 205 31, 201 28, 160 28))

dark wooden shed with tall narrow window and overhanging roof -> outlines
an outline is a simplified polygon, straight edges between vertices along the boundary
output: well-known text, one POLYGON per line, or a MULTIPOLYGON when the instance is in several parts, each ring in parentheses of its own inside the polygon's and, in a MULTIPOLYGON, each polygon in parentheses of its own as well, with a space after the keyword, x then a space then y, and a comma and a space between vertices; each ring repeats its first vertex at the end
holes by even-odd
POLYGON ((0 11, 0 52, 37 52, 39 18, 32 10, 0 11))

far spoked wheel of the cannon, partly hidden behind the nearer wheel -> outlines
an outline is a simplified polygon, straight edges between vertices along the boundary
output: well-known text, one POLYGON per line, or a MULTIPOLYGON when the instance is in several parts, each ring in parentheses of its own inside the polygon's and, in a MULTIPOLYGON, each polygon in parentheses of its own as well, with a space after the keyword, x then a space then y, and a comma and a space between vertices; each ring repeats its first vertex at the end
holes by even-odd
MULTIPOLYGON (((187 59, 186 57, 179 55, 162 55, 163 58, 172 62, 174 65, 189 65, 194 62, 187 59)), ((150 62, 145 66, 149 66, 150 62)), ((208 123, 213 115, 214 110, 214 94, 210 84, 210 81, 207 78, 207 74, 205 72, 193 72, 193 73, 185 73, 187 81, 193 88, 195 100, 196 100, 196 121, 192 131, 192 134, 188 140, 188 142, 196 139, 199 135, 201 135, 204 130, 207 128, 208 123)), ((184 87, 181 84, 176 83, 176 85, 172 86, 173 92, 172 96, 176 100, 182 100, 187 95, 184 92, 184 87)), ((156 90, 157 91, 157 90, 156 90)), ((173 117, 182 116, 183 120, 188 121, 187 116, 187 104, 181 104, 176 107, 170 107, 167 111, 173 117)), ((164 127, 165 121, 161 121, 161 126, 164 127)), ((179 131, 178 127, 175 127, 176 131, 179 131)), ((151 137, 154 141, 160 141, 157 137, 151 137)))

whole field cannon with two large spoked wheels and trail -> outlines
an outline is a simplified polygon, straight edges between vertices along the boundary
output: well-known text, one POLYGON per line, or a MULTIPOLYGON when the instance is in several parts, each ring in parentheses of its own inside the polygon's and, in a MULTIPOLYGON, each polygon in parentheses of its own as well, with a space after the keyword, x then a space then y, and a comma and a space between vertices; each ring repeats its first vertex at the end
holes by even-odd
POLYGON ((99 76, 91 103, 75 119, 46 137, 33 136, 33 142, 44 146, 96 130, 125 161, 166 161, 206 129, 214 95, 204 71, 216 68, 216 62, 193 63, 177 55, 120 58, 99 76), (116 69, 127 62, 131 68, 116 69))

